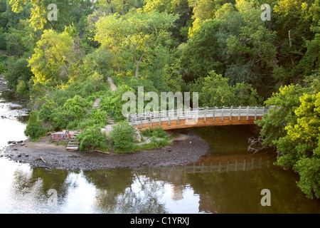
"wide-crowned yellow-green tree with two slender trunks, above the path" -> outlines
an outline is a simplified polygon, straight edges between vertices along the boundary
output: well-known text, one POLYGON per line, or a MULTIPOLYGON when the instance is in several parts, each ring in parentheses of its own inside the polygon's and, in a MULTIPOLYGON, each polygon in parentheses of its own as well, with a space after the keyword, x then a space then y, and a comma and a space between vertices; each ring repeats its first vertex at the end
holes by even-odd
POLYGON ((95 40, 108 47, 117 56, 118 73, 120 53, 125 49, 132 54, 135 76, 139 75, 139 65, 149 49, 166 30, 173 26, 176 16, 156 11, 150 14, 129 13, 125 16, 114 14, 97 21, 95 40))

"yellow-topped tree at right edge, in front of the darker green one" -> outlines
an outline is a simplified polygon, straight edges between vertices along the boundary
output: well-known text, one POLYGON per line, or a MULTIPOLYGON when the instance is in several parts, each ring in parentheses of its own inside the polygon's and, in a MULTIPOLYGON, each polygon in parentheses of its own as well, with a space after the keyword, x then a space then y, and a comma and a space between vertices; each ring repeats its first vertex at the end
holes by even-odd
POLYGON ((320 92, 304 93, 299 100, 297 123, 286 126, 287 135, 277 145, 282 154, 277 165, 299 174, 297 185, 307 197, 320 198, 320 92))

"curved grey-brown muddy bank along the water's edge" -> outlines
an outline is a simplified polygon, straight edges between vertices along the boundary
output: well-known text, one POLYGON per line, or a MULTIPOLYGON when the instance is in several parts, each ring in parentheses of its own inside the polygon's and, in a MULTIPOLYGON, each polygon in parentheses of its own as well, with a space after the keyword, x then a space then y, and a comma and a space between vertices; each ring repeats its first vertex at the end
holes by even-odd
POLYGON ((100 170, 106 168, 184 165, 206 155, 208 144, 192 131, 180 134, 172 145, 159 150, 133 153, 103 154, 99 152, 67 151, 65 145, 50 143, 50 136, 39 142, 30 140, 9 145, 4 156, 10 160, 36 167, 59 170, 100 170))

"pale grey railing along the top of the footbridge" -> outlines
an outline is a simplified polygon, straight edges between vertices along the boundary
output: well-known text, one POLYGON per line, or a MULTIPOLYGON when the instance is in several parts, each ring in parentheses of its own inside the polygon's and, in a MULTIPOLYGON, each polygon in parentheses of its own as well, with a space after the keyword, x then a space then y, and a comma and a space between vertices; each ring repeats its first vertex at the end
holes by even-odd
POLYGON ((254 116, 257 120, 258 116, 262 116, 264 113, 268 112, 267 107, 250 107, 250 106, 240 106, 240 107, 222 107, 222 108, 188 108, 188 109, 178 109, 178 110, 162 110, 153 111, 148 113, 135 113, 127 115, 127 120, 132 125, 142 125, 144 123, 161 123, 162 121, 171 120, 188 120, 188 119, 198 119, 204 118, 215 118, 219 117, 221 120, 224 118, 233 118, 234 116, 240 117, 245 116, 247 119, 249 116, 254 116))

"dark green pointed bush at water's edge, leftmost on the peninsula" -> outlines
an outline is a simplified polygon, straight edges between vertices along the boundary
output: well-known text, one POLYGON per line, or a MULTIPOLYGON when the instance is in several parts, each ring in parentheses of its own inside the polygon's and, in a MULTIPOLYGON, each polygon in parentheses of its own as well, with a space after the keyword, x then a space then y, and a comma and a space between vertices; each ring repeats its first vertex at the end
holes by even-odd
POLYGON ((24 134, 31 137, 31 140, 38 140, 41 136, 46 134, 46 129, 43 128, 43 121, 38 120, 38 113, 31 111, 28 125, 24 134))

